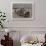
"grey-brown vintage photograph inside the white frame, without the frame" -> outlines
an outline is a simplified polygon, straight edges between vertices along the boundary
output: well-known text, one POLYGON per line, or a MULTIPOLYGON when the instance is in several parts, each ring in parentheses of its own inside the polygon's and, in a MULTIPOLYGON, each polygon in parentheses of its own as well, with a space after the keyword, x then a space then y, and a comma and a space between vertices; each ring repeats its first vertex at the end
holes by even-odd
POLYGON ((32 4, 13 3, 12 16, 13 18, 32 18, 32 4))

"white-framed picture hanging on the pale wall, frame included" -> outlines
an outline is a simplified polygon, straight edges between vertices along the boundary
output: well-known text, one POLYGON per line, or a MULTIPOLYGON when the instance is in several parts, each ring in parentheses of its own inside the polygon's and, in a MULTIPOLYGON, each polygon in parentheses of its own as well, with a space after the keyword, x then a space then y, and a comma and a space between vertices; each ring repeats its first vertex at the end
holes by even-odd
POLYGON ((13 20, 33 20, 35 15, 34 2, 14 3, 12 2, 13 20))

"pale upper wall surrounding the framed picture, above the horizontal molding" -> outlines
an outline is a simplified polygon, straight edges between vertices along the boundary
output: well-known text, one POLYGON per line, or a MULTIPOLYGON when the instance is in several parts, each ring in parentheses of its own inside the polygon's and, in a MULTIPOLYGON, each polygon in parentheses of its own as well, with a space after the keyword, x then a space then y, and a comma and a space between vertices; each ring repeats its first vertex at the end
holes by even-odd
MULTIPOLYGON (((38 27, 39 29, 39 27, 46 27, 45 4, 46 0, 0 0, 0 9, 6 12, 7 19, 10 20, 10 22, 6 24, 7 27, 38 27), (33 21, 11 21, 11 2, 31 1, 35 1, 35 19, 33 21)), ((46 28, 44 30, 46 30, 46 28)))

